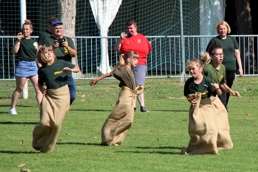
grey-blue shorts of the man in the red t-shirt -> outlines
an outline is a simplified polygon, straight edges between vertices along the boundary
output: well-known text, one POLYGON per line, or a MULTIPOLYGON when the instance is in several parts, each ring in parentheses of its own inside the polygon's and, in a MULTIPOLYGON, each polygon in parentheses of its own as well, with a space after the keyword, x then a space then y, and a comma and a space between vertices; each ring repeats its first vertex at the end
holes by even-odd
POLYGON ((132 71, 135 78, 136 86, 143 85, 145 82, 145 76, 147 72, 146 65, 136 65, 135 67, 132 67, 132 71))

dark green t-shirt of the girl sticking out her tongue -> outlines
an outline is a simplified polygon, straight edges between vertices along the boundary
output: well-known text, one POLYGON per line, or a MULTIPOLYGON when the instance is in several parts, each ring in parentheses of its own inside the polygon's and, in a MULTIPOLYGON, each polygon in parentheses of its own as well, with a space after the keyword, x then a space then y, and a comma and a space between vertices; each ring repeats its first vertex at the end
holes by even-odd
POLYGON ((214 84, 211 78, 203 75, 203 80, 200 84, 195 84, 193 77, 189 78, 184 84, 184 96, 189 94, 201 93, 201 99, 206 99, 211 96, 216 96, 217 91, 213 88, 211 83, 214 84))

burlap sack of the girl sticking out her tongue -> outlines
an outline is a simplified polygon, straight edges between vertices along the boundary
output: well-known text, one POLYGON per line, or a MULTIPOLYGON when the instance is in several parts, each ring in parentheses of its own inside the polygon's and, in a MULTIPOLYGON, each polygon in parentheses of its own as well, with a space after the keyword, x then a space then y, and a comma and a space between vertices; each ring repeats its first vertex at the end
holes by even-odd
POLYGON ((189 109, 188 133, 190 141, 187 149, 182 148, 182 154, 218 154, 217 126, 211 99, 201 99, 201 93, 190 95, 197 100, 195 108, 189 109))

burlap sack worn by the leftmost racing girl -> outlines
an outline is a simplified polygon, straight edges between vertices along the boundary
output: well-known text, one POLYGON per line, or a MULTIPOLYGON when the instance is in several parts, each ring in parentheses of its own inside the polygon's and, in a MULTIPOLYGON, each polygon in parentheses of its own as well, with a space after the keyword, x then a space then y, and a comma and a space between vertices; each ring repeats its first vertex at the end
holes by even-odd
POLYGON ((32 146, 43 153, 54 150, 61 124, 70 109, 68 86, 48 89, 43 96, 40 110, 40 121, 33 130, 32 146))

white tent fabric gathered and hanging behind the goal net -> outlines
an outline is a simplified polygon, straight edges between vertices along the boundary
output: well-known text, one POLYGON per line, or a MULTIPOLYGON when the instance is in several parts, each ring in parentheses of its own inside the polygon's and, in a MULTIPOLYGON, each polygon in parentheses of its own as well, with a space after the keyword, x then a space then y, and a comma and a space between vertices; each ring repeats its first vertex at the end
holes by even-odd
MULTIPOLYGON (((115 19, 122 0, 90 0, 91 9, 99 28, 100 36, 108 36, 108 28, 115 19)), ((101 38, 101 63, 98 70, 102 74, 110 73, 107 38, 101 38)))

